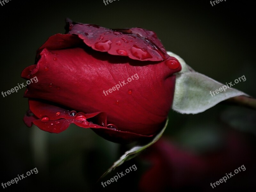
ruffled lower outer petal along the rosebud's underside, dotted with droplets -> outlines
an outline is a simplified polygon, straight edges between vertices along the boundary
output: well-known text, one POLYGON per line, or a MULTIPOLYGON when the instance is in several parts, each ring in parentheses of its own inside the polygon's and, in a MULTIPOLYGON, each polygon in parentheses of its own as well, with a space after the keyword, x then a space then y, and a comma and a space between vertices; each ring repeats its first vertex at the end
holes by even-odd
POLYGON ((140 135, 132 132, 122 132, 100 126, 99 124, 106 125, 107 122, 107 115, 103 112, 92 114, 79 112, 75 116, 71 116, 71 110, 37 100, 29 100, 29 108, 31 111, 28 111, 24 117, 24 122, 29 127, 31 127, 33 123, 41 130, 51 133, 63 132, 71 123, 74 123, 82 128, 92 128, 96 133, 100 132, 105 135, 105 139, 117 143, 129 143, 134 139, 147 139, 152 136, 140 135), (31 116, 32 114, 35 115, 31 116), (94 121, 97 124, 91 123, 91 121, 94 121))

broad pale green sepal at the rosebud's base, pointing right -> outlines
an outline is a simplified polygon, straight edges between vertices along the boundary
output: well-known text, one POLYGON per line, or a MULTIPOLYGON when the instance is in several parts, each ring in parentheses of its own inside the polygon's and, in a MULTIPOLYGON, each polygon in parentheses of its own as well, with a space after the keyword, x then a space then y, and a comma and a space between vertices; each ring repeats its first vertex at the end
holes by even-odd
POLYGON ((197 114, 229 98, 241 95, 248 96, 244 92, 231 87, 228 88, 227 85, 195 72, 178 55, 172 52, 168 52, 168 54, 176 57, 182 66, 182 70, 175 74, 176 84, 172 104, 173 110, 182 114, 197 114), (222 91, 218 94, 216 92, 212 93, 217 89, 222 91))

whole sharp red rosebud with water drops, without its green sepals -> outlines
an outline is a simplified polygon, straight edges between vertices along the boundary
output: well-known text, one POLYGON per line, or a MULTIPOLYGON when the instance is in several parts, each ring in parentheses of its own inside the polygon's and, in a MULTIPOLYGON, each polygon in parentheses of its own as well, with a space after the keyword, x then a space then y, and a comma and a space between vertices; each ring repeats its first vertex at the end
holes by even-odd
POLYGON ((70 20, 66 30, 51 36, 36 64, 22 71, 23 78, 38 79, 24 95, 30 109, 24 122, 51 133, 74 123, 117 143, 152 138, 172 106, 180 62, 153 31, 70 20))

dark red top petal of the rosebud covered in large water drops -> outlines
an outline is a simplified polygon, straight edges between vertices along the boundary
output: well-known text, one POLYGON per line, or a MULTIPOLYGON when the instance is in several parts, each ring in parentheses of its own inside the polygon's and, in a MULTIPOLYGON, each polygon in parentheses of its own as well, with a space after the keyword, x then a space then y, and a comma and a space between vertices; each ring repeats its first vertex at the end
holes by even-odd
POLYGON ((128 34, 98 25, 71 22, 68 28, 68 34, 78 35, 86 45, 96 51, 143 61, 162 61, 169 57, 152 31, 132 28, 135 34, 128 34))

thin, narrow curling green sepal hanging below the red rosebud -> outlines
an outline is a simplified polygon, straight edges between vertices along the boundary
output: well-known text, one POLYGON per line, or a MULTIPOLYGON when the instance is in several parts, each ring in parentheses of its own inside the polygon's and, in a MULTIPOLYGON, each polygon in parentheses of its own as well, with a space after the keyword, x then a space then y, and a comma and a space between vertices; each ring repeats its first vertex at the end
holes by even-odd
MULTIPOLYGON (((153 145, 157 140, 160 139, 160 137, 163 135, 164 130, 168 124, 169 119, 167 118, 166 123, 164 125, 164 128, 161 130, 161 132, 159 132, 154 139, 149 142, 146 145, 143 146, 135 146, 132 149, 130 149, 129 151, 126 151, 124 153, 123 156, 121 156, 101 177, 100 179, 102 179, 103 177, 105 177, 106 175, 108 175, 108 173, 110 173, 111 171, 115 170, 116 167, 120 166, 121 164, 123 164, 125 161, 128 161, 134 157, 136 157, 137 155, 139 155, 143 150, 145 150, 146 148, 148 148, 149 146, 153 145)), ((99 179, 99 180, 100 180, 99 179)))

